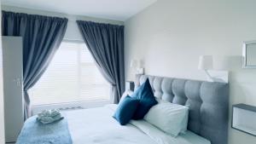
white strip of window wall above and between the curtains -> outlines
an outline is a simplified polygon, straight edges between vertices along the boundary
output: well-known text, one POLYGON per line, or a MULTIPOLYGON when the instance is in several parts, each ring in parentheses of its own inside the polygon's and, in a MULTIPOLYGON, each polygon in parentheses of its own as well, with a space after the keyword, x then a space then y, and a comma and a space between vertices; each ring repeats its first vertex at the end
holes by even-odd
POLYGON ((118 20, 105 20, 105 19, 92 18, 89 16, 61 14, 61 13, 36 10, 36 9, 23 9, 23 8, 12 7, 7 5, 2 5, 2 9, 6 11, 13 11, 13 12, 19 12, 19 13, 26 13, 26 14, 43 14, 43 15, 49 15, 49 16, 66 17, 68 19, 68 22, 67 22, 67 31, 65 33, 64 39, 68 39, 68 40, 83 41, 83 37, 79 32, 79 28, 77 26, 76 20, 90 20, 90 21, 101 22, 101 23, 124 25, 124 22, 118 21, 118 20))

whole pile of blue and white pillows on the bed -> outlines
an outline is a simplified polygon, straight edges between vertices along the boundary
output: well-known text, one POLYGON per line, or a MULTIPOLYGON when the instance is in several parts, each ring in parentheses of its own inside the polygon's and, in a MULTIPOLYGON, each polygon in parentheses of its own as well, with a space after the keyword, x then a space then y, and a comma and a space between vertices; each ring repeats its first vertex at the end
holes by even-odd
POLYGON ((174 137, 187 130, 189 107, 156 100, 148 79, 133 94, 130 93, 131 96, 126 95, 122 95, 113 115, 119 124, 125 125, 131 119, 144 119, 174 137))

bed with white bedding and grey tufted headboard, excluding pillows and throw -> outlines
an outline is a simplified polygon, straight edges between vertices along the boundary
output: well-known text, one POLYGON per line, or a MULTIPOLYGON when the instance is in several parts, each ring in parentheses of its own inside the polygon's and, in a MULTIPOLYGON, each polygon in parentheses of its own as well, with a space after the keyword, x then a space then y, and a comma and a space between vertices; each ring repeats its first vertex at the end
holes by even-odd
POLYGON ((145 120, 121 126, 112 118, 117 105, 107 105, 63 113, 73 144, 227 144, 228 84, 139 75, 136 87, 146 78, 155 97, 189 106, 186 133, 172 137, 145 120))

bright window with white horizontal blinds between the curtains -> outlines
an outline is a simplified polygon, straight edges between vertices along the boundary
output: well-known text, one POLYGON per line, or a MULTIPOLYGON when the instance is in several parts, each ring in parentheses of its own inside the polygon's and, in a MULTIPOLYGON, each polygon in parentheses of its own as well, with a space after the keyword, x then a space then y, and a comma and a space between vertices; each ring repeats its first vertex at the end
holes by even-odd
POLYGON ((102 77, 85 43, 61 43, 38 83, 29 90, 32 105, 109 100, 102 77))

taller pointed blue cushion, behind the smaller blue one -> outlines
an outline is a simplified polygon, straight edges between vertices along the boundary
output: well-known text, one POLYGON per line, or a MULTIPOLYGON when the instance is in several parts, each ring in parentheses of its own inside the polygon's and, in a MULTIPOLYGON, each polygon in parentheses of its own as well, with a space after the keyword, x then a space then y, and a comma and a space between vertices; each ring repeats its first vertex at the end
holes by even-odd
POLYGON ((148 78, 145 83, 137 88, 137 90, 131 95, 131 97, 137 98, 140 101, 137 107, 137 111, 132 117, 136 120, 143 119, 149 109, 157 104, 148 78))

